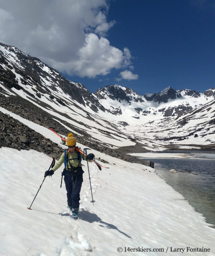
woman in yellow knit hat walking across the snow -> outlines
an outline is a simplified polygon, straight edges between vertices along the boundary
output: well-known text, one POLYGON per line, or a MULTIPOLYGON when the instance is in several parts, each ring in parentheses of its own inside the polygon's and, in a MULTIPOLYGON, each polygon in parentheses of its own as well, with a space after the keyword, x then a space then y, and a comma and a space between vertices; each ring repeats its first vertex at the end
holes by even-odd
MULTIPOLYGON (((54 172, 64 163, 65 168, 62 172, 64 175, 64 182, 67 190, 67 204, 70 211, 72 211, 72 218, 77 220, 80 191, 83 182, 83 173, 81 167, 81 160, 91 160, 95 157, 92 153, 84 156, 82 153, 76 150, 76 138, 72 133, 68 134, 67 138, 68 149, 60 156, 59 161, 50 171, 46 171, 44 177, 52 176, 54 172)), ((61 180, 62 181, 62 180, 61 180)))

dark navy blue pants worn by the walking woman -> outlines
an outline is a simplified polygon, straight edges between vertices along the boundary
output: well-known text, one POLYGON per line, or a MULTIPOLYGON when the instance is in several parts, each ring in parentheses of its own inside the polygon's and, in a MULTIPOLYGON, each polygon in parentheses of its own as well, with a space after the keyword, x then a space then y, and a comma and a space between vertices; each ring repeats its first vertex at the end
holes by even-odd
MULTIPOLYGON (((73 176, 74 181, 76 180, 76 176, 73 176)), ((67 204, 68 206, 72 206, 72 208, 79 208, 80 201, 80 191, 83 182, 83 175, 77 175, 76 187, 74 188, 74 184, 72 182, 72 176, 65 175, 64 182, 67 190, 67 204)))

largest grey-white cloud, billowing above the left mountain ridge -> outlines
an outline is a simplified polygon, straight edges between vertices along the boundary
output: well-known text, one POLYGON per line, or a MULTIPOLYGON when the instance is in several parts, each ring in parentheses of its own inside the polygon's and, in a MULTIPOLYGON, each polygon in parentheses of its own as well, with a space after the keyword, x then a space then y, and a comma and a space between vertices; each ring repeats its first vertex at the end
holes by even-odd
POLYGON ((95 77, 131 66, 129 49, 105 38, 106 0, 0 0, 0 41, 69 75, 95 77))

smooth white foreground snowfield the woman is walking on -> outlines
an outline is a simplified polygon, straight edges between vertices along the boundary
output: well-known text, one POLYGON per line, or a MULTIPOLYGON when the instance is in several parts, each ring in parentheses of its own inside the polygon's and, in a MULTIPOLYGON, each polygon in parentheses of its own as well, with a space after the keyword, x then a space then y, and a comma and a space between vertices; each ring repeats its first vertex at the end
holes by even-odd
POLYGON ((167 256, 178 256, 182 251, 174 251, 177 248, 189 256, 215 255, 215 229, 154 169, 92 153, 108 161, 110 169, 99 171, 89 164, 93 206, 83 161, 81 210, 75 221, 67 210, 65 185, 60 188, 63 166, 45 179, 28 210, 52 158, 34 150, 0 148, 0 255, 158 256, 167 251, 167 256), (210 251, 195 252, 197 248, 210 251))

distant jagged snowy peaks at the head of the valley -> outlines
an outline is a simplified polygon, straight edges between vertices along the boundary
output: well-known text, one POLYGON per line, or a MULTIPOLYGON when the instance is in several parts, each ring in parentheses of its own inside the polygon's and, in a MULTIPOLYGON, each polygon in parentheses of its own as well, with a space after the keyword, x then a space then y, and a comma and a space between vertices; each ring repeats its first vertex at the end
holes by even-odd
MULTIPOLYGON (((133 90, 120 85, 108 85, 99 89, 94 95, 107 111, 114 115, 122 115, 130 108, 133 118, 142 116, 178 116, 215 99, 215 88, 204 93, 189 89, 175 90, 170 86, 159 93, 139 95, 133 90)), ((154 119, 154 118, 153 118, 154 119)))

